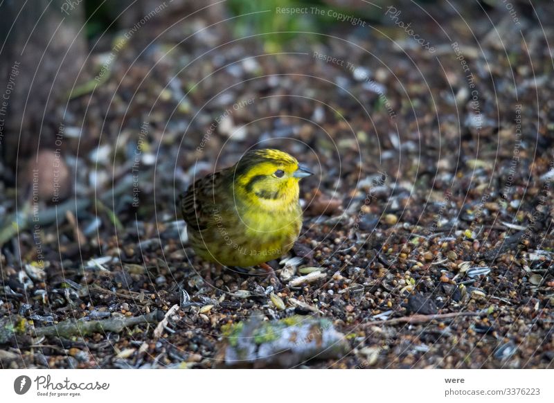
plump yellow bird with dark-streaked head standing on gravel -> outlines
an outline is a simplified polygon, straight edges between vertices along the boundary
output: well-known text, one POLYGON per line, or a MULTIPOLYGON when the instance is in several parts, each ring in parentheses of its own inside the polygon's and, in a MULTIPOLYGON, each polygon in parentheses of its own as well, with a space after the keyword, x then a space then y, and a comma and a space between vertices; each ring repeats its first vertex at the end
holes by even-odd
POLYGON ((298 181, 312 174, 286 152, 251 150, 181 196, 188 240, 224 266, 260 265, 289 251, 301 230, 298 181))

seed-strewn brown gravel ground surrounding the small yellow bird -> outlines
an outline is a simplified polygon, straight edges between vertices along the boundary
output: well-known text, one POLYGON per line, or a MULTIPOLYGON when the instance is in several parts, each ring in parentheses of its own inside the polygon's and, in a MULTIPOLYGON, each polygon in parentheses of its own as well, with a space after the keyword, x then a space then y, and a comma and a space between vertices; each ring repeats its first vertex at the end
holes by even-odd
POLYGON ((554 30, 527 9, 518 25, 437 6, 437 25, 407 7, 278 52, 202 16, 136 33, 69 102, 66 213, 41 204, 38 230, 3 240, 1 366, 225 367, 238 324, 319 318, 346 346, 243 364, 552 368, 554 30), (301 237, 269 262, 277 279, 197 259, 175 208, 195 175, 260 145, 316 171, 301 237))

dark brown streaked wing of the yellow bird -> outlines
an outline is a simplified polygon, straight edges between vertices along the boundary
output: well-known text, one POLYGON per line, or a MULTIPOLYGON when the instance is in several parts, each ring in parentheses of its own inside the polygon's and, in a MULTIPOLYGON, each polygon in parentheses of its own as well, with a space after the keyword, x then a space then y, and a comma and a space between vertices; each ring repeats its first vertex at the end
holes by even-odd
POLYGON ((222 191, 222 172, 214 172, 198 179, 179 197, 181 213, 188 226, 202 231, 214 222, 215 206, 222 191))

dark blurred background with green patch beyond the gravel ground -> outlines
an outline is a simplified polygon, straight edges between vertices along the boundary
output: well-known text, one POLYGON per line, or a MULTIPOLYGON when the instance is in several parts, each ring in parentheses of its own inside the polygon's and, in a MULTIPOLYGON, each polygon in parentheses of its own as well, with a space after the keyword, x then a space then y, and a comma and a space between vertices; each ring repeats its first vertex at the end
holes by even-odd
MULTIPOLYGON (((410 15, 413 20, 425 22, 430 17, 444 19, 456 14, 453 7, 443 1, 393 0, 372 2, 382 8, 395 6, 410 15), (424 11, 425 10, 425 11, 424 11)), ((492 19, 505 14, 506 4, 501 0, 454 1, 458 12, 468 21, 488 12, 492 19)), ((75 82, 84 80, 91 73, 91 53, 107 51, 113 37, 126 28, 137 24, 152 10, 165 4, 163 15, 151 21, 149 29, 156 25, 159 30, 194 13, 206 25, 224 26, 235 37, 260 35, 257 39, 265 44, 267 51, 278 51, 284 44, 298 38, 299 32, 328 32, 340 35, 348 30, 361 29, 343 24, 327 14, 303 14, 290 17, 285 14, 263 12, 264 10, 316 6, 321 10, 337 10, 359 17, 371 24, 391 26, 391 21, 378 8, 359 0, 229 0, 210 1, 159 1, 159 0, 36 0, 31 2, 3 1, 0 4, 0 77, 8 81, 12 62, 21 62, 20 78, 10 96, 10 114, 4 125, 1 156, 3 179, 6 169, 12 172, 19 157, 28 155, 37 148, 36 138, 43 131, 57 130, 59 114, 55 109, 64 102, 67 91, 75 82), (240 18, 236 18, 240 16, 240 18), (229 21, 224 21, 228 18, 229 21), (14 24, 16 22, 16 24, 14 24), (292 32, 285 32, 292 31, 292 32), (278 33, 275 33, 278 32, 278 33), (17 150, 17 152, 15 152, 17 150)), ((552 14, 548 1, 533 1, 541 15, 552 14)), ((523 19, 533 21, 534 11, 523 0, 510 2, 523 19)), ((431 24, 429 24, 431 25, 431 24)), ((304 35, 303 41, 324 42, 324 36, 304 35)))

